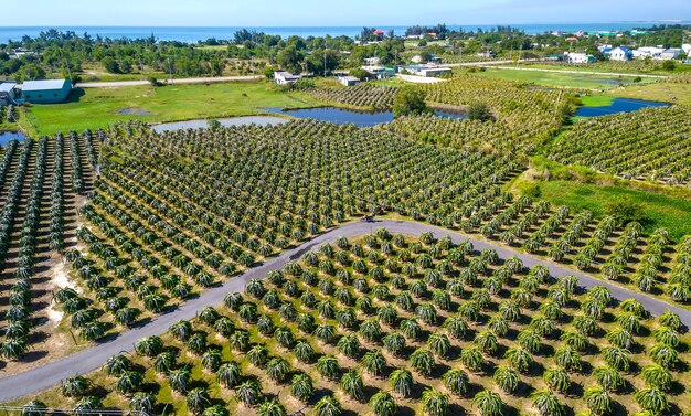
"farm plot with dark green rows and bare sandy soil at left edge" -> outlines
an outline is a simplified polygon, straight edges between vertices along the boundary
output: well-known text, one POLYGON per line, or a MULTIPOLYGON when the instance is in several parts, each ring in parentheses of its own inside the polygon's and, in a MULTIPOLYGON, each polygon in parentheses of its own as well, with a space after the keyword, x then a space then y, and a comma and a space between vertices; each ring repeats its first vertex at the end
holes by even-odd
MULTIPOLYGON (((95 163, 92 138, 73 135, 54 139, 11 141, 0 166, 0 354, 3 360, 25 358, 35 364, 47 351, 65 342, 56 334, 60 319, 51 314, 52 291, 62 281, 53 277, 60 263, 54 255, 74 242, 75 203, 92 186, 95 163)), ((66 348, 65 348, 66 350, 66 348)), ((32 365, 33 365, 32 364, 32 365)), ((20 363, 0 366, 12 372, 20 363)))

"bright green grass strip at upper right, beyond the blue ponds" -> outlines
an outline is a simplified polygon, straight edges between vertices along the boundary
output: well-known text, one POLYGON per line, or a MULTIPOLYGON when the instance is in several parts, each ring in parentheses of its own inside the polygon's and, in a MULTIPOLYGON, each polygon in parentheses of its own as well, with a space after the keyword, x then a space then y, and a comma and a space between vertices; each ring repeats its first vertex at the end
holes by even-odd
MULTIPOLYGON (((632 77, 617 77, 595 74, 565 74, 541 71, 519 71, 519 70, 496 70, 487 68, 476 73, 487 78, 512 79, 536 85, 586 89, 609 89, 617 87, 619 83, 624 85, 632 84, 632 77)), ((640 83, 649 83, 651 79, 644 78, 640 83)))

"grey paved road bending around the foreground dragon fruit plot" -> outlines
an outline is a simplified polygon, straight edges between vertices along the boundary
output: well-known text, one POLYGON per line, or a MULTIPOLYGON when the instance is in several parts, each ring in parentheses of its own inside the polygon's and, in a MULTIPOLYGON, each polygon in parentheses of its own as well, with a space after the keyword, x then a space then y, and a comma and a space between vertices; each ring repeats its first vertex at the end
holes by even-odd
POLYGON ((110 341, 97 344, 96 346, 89 348, 88 350, 67 355, 59 361, 52 362, 44 366, 29 370, 17 375, 0 378, 0 402, 7 402, 40 392, 60 383, 61 380, 64 380, 68 376, 75 374, 84 374, 89 371, 96 370, 102 366, 111 355, 134 349, 135 342, 140 338, 163 333, 174 321, 179 319, 192 319, 202 308, 220 305, 223 301, 225 294, 231 291, 235 292, 244 290, 245 284, 251 279, 263 278, 268 271, 278 269, 283 267, 284 264, 286 264, 287 262, 296 260, 308 250, 315 249, 323 243, 333 242, 339 236, 354 237, 372 233, 376 231, 376 228, 381 227, 384 227, 394 234, 401 233, 407 235, 419 235, 425 232, 432 232, 437 238, 448 235, 456 244, 463 241, 470 241, 476 250, 495 248, 500 258, 506 259, 511 256, 517 256, 523 262, 524 267, 544 265, 550 269, 550 274, 554 277, 574 275, 578 277, 580 286, 582 287, 589 288, 596 285, 606 286, 609 288, 615 299, 636 298, 640 300, 646 309, 648 309, 648 311, 652 314, 660 314, 666 310, 671 310, 679 314, 681 321, 685 326, 691 327, 691 311, 689 310, 679 308, 677 306, 648 297, 642 294, 635 292, 609 281, 600 280, 595 277, 578 273, 576 270, 572 270, 552 264, 550 262, 542 260, 531 255, 518 253, 506 247, 500 247, 476 238, 467 237, 463 234, 449 230, 432 226, 428 224, 393 220, 376 221, 374 223, 354 222, 330 230, 308 242, 305 242, 302 245, 296 248, 284 252, 279 256, 273 257, 266 263, 227 280, 224 285, 204 291, 200 297, 187 301, 178 309, 157 317, 146 326, 126 331, 110 341))

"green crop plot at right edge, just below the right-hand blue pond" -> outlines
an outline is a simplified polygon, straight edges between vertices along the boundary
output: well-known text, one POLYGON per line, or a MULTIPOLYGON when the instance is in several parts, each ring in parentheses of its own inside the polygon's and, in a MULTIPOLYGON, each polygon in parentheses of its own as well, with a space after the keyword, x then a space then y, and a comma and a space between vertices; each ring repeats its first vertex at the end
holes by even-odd
POLYGON ((581 120, 550 150, 565 164, 583 164, 625 179, 691 183, 691 110, 646 108, 581 120))

